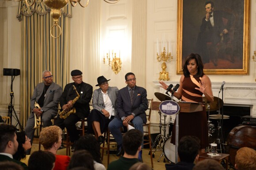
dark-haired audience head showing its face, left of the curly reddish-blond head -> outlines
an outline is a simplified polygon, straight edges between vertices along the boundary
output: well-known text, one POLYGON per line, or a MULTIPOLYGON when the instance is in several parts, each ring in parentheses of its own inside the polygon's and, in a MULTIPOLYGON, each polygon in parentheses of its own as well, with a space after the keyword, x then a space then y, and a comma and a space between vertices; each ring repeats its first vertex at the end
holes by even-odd
POLYGON ((28 138, 24 131, 16 132, 17 141, 19 143, 17 152, 13 155, 13 159, 20 160, 26 157, 26 150, 31 148, 30 138, 28 138))

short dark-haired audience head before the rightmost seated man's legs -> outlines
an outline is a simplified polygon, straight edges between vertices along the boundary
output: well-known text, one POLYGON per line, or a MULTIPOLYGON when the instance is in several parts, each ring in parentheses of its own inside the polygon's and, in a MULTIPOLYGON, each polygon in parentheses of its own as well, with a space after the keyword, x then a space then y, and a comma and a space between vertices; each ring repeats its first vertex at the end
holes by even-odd
POLYGON ((143 134, 137 129, 128 130, 122 139, 124 154, 136 156, 141 150, 143 134))

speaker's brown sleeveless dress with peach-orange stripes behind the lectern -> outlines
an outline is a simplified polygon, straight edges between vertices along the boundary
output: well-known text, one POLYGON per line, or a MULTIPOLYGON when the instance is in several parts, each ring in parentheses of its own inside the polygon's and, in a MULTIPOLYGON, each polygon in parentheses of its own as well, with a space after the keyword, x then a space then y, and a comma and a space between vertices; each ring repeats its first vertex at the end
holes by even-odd
MULTIPOLYGON (((182 82, 183 94, 181 97, 182 101, 187 102, 203 102, 203 93, 196 90, 195 87, 199 88, 201 81, 200 78, 184 77, 182 82)), ((174 122, 171 143, 175 145, 176 137, 176 120, 174 122)), ((200 112, 180 112, 179 113, 179 141, 181 137, 186 135, 196 136, 200 139, 201 148, 206 148, 209 146, 208 143, 208 128, 207 128, 207 114, 205 107, 203 106, 203 111, 200 112)))

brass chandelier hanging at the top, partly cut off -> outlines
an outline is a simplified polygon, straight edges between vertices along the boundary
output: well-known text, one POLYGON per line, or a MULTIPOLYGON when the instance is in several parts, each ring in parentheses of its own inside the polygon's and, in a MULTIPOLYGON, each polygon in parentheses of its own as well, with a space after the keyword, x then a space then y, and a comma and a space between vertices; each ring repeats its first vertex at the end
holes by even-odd
MULTIPOLYGON (((10 1, 10 0, 6 0, 6 1, 10 1)), ((22 0, 15 0, 15 1, 22 1, 22 0)), ((34 3, 36 2, 36 0, 29 0, 29 1, 32 1, 32 2, 29 4, 28 0, 25 0, 26 5, 29 7, 34 5, 34 3)), ((75 7, 77 5, 77 3, 81 7, 87 7, 89 4, 89 0, 87 0, 85 4, 81 3, 82 0, 44 0, 45 5, 48 6, 49 8, 51 8, 51 16, 53 17, 53 26, 50 29, 50 34, 53 38, 58 38, 61 35, 61 28, 59 25, 59 18, 61 16, 60 10, 61 10, 61 8, 65 7, 68 4, 68 1, 72 5, 72 7, 75 7), (58 27, 60 29, 60 34, 58 36, 53 36, 53 34, 52 34, 53 27, 58 27)), ((115 4, 119 0, 104 0, 104 1, 109 4, 115 4)))

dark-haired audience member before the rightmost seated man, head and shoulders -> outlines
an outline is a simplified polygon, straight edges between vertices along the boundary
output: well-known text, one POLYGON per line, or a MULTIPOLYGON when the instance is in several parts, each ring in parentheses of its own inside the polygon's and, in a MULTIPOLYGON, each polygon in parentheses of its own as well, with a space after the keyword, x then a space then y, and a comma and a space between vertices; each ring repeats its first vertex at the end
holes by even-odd
POLYGON ((111 162, 108 170, 129 170, 132 165, 139 162, 138 154, 141 150, 143 134, 140 130, 132 129, 123 136, 124 156, 111 162))

